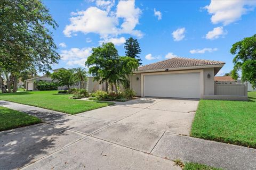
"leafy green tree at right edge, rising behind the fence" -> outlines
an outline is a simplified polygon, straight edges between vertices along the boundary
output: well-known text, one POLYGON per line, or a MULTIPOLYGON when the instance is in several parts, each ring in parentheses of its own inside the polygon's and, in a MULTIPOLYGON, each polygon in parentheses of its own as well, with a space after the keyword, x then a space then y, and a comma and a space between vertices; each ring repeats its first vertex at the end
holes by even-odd
POLYGON ((237 72, 242 71, 242 81, 248 81, 256 87, 256 35, 233 44, 230 53, 235 55, 232 77, 237 79, 237 72))

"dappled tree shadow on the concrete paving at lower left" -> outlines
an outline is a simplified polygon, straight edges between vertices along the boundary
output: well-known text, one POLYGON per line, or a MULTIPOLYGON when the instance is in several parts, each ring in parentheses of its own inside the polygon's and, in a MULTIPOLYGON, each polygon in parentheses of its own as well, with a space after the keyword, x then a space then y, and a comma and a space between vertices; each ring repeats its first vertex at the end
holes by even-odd
MULTIPOLYGON (((3 105, 3 103, 2 103, 3 105)), ((62 125, 69 121, 67 114, 54 111, 23 111, 39 117, 43 122, 62 125)), ((75 134, 54 125, 39 123, 23 128, 0 132, 1 152, 0 169, 17 169, 34 162, 67 145, 63 141, 73 142, 75 134)))

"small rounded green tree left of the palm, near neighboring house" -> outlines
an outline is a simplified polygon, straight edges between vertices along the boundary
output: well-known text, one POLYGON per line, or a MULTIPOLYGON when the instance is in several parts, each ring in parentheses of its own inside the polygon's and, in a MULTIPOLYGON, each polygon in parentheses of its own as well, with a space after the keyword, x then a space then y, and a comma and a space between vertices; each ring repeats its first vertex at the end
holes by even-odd
POLYGON ((60 69, 57 72, 53 72, 51 78, 53 81, 57 81, 59 86, 67 86, 68 91, 70 91, 69 88, 75 84, 74 72, 71 69, 60 69))

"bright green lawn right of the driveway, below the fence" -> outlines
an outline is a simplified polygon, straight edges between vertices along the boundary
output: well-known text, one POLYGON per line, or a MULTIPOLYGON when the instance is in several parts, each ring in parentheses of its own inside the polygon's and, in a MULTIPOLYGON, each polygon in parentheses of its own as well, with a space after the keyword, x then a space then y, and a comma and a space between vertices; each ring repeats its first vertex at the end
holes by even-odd
POLYGON ((191 136, 256 148, 256 92, 249 101, 200 100, 191 136))

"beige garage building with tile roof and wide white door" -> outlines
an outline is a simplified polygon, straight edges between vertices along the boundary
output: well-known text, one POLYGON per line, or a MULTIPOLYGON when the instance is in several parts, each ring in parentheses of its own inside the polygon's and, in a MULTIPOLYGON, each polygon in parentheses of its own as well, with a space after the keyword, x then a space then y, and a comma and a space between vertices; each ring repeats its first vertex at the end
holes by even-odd
POLYGON ((141 97, 247 100, 236 94, 217 95, 214 76, 224 62, 174 57, 140 66, 130 78, 130 86, 141 97))

